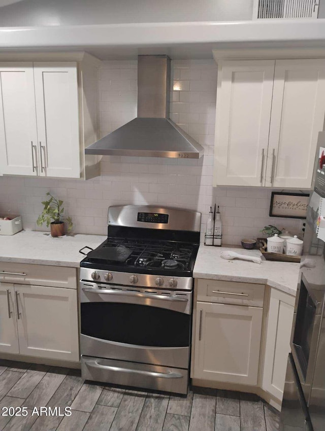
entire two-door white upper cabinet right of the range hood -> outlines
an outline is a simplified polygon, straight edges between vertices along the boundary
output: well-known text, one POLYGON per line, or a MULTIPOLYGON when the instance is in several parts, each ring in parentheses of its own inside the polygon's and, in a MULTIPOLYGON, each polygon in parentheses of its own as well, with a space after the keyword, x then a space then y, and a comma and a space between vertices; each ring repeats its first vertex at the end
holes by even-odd
POLYGON ((213 185, 310 188, 325 60, 218 64, 213 185))

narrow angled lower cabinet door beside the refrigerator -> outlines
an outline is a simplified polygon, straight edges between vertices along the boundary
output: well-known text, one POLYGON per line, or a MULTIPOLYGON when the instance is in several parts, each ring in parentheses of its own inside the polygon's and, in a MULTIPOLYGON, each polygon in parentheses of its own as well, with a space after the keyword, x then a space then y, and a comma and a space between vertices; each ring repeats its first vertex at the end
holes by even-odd
POLYGON ((271 289, 262 388, 282 400, 295 298, 271 289))

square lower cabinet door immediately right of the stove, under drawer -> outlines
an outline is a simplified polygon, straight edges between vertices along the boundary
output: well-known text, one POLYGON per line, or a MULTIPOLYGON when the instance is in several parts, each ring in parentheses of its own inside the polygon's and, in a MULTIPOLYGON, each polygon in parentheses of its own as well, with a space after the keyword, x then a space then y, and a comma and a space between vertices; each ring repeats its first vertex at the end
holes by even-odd
POLYGON ((193 378, 256 385, 263 308, 197 302, 193 378))

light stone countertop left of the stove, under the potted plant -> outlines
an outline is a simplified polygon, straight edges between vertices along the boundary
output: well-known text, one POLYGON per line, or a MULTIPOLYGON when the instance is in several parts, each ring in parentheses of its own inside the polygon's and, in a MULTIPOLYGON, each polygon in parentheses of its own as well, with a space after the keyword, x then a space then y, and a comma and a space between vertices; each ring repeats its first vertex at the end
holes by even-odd
MULTIPOLYGON (((98 247, 107 236, 69 234, 52 238, 49 232, 21 231, 15 235, 0 235, 0 262, 78 268, 84 258, 80 248, 98 247)), ((89 250, 88 250, 89 251, 89 250)), ((87 250, 85 250, 87 252, 87 250)))

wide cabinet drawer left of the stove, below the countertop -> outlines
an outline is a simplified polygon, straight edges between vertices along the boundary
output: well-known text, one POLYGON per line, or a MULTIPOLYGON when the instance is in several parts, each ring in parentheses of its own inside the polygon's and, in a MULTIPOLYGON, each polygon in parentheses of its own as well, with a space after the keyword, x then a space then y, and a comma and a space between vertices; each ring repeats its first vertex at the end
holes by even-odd
POLYGON ((0 282, 77 289, 77 270, 63 266, 0 262, 0 282))

